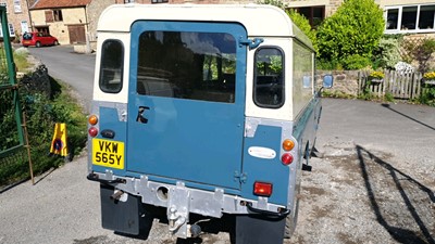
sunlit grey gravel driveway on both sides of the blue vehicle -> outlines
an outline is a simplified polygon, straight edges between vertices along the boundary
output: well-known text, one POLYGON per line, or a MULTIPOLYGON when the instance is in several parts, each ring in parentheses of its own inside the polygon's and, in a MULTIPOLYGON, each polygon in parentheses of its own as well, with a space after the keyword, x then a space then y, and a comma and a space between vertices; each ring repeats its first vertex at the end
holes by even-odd
MULTIPOLYGON (((324 100, 312 172, 303 172, 299 222, 285 243, 435 244, 435 108, 324 100)), ((0 194, 0 243, 183 243, 154 222, 147 241, 100 223, 86 156, 0 194)), ((204 234, 191 243, 229 243, 204 234)))

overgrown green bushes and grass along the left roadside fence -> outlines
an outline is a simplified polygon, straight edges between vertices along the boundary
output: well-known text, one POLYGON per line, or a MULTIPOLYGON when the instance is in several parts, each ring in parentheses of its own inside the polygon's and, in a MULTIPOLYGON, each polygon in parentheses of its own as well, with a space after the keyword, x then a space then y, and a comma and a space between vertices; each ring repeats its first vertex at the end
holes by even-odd
MULTIPOLYGON (((32 77, 26 75, 20 81, 18 87, 21 105, 23 111, 26 112, 26 125, 35 175, 55 168, 64 162, 61 157, 49 157, 54 123, 66 124, 67 145, 72 154, 77 155, 87 140, 86 116, 83 113, 83 108, 77 105, 76 101, 67 92, 71 87, 52 79, 46 72, 47 69, 40 67, 32 77)), ((8 102, 10 102, 9 97, 0 95, 0 104, 8 102)), ((16 133, 16 126, 9 129, 4 127, 7 123, 11 124, 11 125, 14 126, 13 111, 4 113, 1 118, 3 119, 0 121, 2 131, 0 141, 14 140, 9 144, 3 144, 7 147, 16 145, 17 138, 13 137, 13 133, 16 133), (8 133, 3 133, 3 130, 8 133)), ((0 150, 4 150, 4 146, 0 150)), ((0 185, 28 178, 27 157, 12 156, 12 159, 0 158, 0 185)))

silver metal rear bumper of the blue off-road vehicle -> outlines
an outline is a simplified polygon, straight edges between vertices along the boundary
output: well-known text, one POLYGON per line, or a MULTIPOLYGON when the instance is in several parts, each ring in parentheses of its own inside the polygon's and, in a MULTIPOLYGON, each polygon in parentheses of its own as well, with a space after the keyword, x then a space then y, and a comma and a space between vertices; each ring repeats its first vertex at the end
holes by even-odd
POLYGON ((144 204, 153 206, 183 209, 202 216, 221 218, 225 214, 262 214, 274 217, 285 217, 289 214, 286 206, 268 203, 268 197, 257 200, 243 198, 237 195, 225 194, 223 189, 214 192, 187 188, 178 181, 176 185, 148 180, 148 177, 137 178, 117 177, 110 171, 105 174, 92 172, 89 180, 110 184, 117 190, 132 195, 140 196, 144 204))

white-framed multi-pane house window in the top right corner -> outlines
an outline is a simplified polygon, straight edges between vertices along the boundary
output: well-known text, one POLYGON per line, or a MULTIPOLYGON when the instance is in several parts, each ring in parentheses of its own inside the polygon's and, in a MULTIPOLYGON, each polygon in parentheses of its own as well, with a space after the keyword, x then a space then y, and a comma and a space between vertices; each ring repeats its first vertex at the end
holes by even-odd
POLYGON ((385 33, 434 33, 435 4, 386 8, 385 33))

